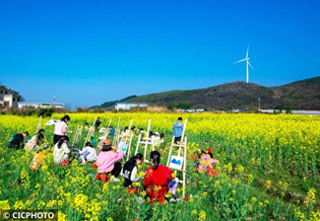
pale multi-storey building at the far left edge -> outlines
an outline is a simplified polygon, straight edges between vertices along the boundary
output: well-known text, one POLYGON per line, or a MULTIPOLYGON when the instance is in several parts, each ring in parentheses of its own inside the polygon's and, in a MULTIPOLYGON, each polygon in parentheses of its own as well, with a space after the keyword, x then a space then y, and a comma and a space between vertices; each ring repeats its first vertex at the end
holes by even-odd
POLYGON ((17 107, 17 103, 21 101, 21 98, 16 91, 0 86, 0 106, 2 108, 17 107))

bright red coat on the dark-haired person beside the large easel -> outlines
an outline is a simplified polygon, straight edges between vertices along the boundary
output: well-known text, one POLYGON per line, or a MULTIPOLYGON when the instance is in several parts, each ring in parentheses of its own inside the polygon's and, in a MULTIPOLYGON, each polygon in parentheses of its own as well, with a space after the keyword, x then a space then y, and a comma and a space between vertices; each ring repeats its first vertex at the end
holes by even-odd
POLYGON ((161 164, 156 169, 150 166, 145 172, 143 184, 147 187, 146 192, 148 195, 151 197, 163 197, 168 189, 168 180, 172 180, 172 173, 171 169, 161 164))

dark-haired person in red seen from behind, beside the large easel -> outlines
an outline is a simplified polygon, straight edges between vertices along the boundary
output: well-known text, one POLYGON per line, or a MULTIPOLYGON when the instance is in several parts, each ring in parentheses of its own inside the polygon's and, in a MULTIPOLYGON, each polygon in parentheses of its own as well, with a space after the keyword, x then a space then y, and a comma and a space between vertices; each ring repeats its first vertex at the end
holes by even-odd
POLYGON ((150 197, 150 203, 159 200, 163 203, 164 195, 168 190, 168 180, 172 180, 173 171, 167 166, 160 164, 160 153, 156 150, 150 154, 153 165, 150 166, 144 175, 144 184, 147 196, 150 197))

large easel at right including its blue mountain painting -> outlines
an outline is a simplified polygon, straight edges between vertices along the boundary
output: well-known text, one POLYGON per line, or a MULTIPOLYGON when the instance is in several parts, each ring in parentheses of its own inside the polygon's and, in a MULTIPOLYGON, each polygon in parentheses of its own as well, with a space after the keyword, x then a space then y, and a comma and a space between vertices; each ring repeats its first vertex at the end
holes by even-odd
POLYGON ((174 142, 174 136, 172 136, 171 145, 169 149, 168 158, 166 161, 166 166, 171 169, 174 169, 174 172, 181 171, 182 172, 182 180, 178 180, 179 183, 182 183, 182 197, 184 197, 185 193, 185 175, 186 175, 186 144, 187 138, 184 136, 185 128, 186 128, 187 120, 184 120, 181 141, 174 142), (174 149, 173 149, 174 148, 174 149), (183 149, 182 149, 183 148, 183 149), (173 155, 172 152, 176 152, 177 154, 173 155))

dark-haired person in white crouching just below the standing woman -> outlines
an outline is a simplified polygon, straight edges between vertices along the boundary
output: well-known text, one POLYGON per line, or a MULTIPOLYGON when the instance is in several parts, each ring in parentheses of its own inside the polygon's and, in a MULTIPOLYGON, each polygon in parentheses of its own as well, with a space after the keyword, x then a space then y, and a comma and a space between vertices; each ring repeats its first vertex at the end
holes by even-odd
POLYGON ((68 146, 69 137, 67 135, 62 136, 54 145, 53 158, 55 164, 67 165, 70 149, 68 146))

